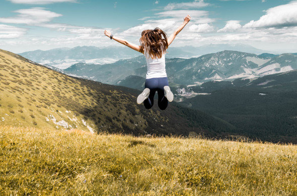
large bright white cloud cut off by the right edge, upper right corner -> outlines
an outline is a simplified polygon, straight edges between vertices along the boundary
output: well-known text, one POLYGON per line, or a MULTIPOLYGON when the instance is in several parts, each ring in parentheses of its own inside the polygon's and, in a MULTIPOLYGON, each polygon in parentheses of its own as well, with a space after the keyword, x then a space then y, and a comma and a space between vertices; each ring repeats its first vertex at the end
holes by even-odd
POLYGON ((297 26, 297 2, 276 6, 266 11, 257 21, 250 21, 244 28, 297 26))

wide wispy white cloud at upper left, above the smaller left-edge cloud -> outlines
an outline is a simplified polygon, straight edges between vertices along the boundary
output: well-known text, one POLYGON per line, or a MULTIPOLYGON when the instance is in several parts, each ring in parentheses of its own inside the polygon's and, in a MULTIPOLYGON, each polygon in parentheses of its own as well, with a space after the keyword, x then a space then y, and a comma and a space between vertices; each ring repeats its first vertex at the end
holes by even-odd
POLYGON ((61 14, 47 11, 43 8, 17 10, 15 11, 15 13, 19 13, 19 15, 17 15, 16 17, 0 18, 0 22, 35 25, 49 22, 53 18, 62 16, 61 14))

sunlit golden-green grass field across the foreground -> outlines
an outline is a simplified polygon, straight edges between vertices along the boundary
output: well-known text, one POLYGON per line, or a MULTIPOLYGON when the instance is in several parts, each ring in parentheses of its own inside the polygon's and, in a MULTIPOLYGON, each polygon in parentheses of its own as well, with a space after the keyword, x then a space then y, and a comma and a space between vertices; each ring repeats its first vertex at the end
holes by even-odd
POLYGON ((297 146, 0 126, 0 195, 297 195, 297 146))

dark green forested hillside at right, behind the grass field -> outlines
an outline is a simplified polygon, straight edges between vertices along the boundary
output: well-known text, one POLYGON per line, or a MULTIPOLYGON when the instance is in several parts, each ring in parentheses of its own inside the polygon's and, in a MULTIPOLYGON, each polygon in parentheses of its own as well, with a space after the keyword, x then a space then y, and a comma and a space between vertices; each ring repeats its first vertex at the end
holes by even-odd
POLYGON ((250 138, 297 143, 297 71, 191 88, 209 94, 184 99, 184 106, 222 118, 250 138))

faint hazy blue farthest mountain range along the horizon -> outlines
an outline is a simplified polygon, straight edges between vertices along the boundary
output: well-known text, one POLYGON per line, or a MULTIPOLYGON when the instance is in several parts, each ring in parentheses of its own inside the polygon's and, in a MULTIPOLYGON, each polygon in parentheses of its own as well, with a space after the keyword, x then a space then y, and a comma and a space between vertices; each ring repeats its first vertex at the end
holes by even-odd
MULTIPOLYGON (((267 52, 244 44, 207 44, 199 47, 170 47, 167 57, 191 58, 222 50, 245 51, 256 54, 267 52)), ((140 55, 140 53, 127 47, 109 46, 99 48, 95 46, 78 46, 74 48, 56 48, 46 51, 28 51, 20 55, 41 64, 66 69, 78 62, 105 64, 115 62, 119 59, 136 57, 140 55)))

